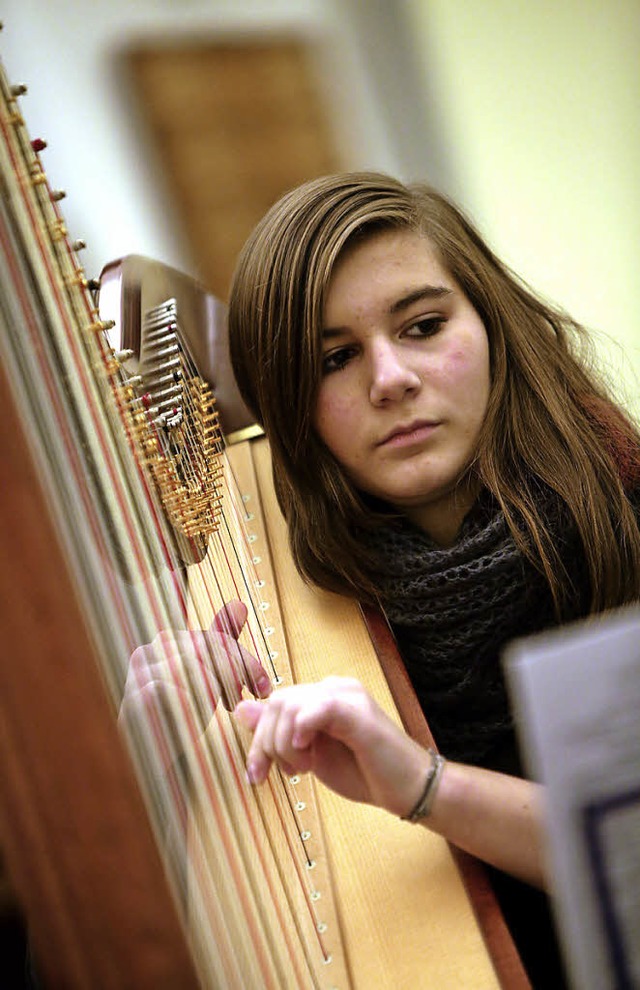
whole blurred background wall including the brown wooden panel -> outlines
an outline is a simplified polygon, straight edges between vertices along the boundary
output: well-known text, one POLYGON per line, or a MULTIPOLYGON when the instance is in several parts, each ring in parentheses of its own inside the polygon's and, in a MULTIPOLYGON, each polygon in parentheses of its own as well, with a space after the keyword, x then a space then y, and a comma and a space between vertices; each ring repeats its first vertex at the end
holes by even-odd
POLYGON ((142 253, 224 296, 289 185, 426 178, 602 332, 640 414, 640 0, 7 0, 2 17, 89 275, 142 253))

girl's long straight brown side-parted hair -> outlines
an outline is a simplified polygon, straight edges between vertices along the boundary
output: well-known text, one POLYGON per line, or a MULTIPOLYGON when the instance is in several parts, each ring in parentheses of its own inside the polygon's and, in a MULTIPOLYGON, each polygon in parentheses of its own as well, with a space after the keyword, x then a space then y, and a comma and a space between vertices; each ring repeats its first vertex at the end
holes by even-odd
POLYGON ((355 237, 388 229, 427 237, 484 323, 491 392, 470 470, 546 575, 559 616, 568 576, 538 505, 541 483, 575 520, 591 610, 640 598, 640 533, 625 491, 640 491, 640 437, 590 370, 585 331, 525 286, 444 196, 376 173, 327 176, 284 196, 247 241, 232 284, 233 367, 271 443, 300 572, 330 590, 376 598, 359 533, 384 509, 351 484, 316 435, 313 414, 333 268, 355 237))

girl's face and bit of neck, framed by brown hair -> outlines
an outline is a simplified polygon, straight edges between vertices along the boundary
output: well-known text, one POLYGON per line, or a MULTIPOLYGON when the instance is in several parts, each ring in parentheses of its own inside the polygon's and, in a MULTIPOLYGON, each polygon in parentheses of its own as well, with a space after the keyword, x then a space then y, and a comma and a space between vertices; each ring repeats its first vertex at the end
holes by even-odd
POLYGON ((318 435, 352 482, 451 542, 489 398, 480 317, 412 231, 347 249, 327 294, 318 435))

